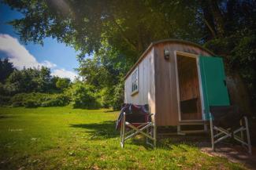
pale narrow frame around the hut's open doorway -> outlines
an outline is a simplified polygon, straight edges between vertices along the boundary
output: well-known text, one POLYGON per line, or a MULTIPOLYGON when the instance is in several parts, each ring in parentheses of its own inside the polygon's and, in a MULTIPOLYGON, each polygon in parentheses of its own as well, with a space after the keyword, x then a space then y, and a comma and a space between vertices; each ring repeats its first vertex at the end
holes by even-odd
MULTIPOLYGON (((178 114, 179 114, 179 121, 181 120, 181 114, 180 114, 180 85, 179 85, 179 73, 178 73, 178 63, 177 63, 177 56, 187 56, 194 58, 196 60, 196 67, 198 71, 198 84, 199 84, 199 93, 200 93, 200 102, 201 102, 201 114, 202 114, 202 120, 205 121, 205 105, 204 105, 204 99, 203 99, 203 92, 202 92, 202 79, 201 79, 201 71, 199 67, 199 55, 189 53, 189 52, 181 52, 181 51, 174 51, 174 62, 175 62, 175 69, 176 69, 176 87, 177 87, 177 103, 178 103, 178 114)), ((190 120, 190 121, 202 121, 202 120, 190 120)))

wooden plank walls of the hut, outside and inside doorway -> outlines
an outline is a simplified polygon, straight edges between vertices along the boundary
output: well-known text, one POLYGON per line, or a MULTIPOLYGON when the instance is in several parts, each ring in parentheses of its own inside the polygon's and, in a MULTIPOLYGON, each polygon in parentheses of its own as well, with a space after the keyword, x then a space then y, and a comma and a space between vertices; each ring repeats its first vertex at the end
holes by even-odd
POLYGON ((211 52, 193 43, 173 40, 156 42, 143 52, 143 55, 125 76, 124 102, 149 104, 150 112, 155 113, 155 121, 158 126, 177 125, 179 106, 180 102, 183 101, 181 105, 190 106, 196 103, 197 106, 191 110, 183 109, 183 112, 189 114, 183 116, 182 119, 202 119, 196 61, 195 59, 182 61, 183 52, 190 53, 192 56, 213 56, 211 52), (165 60, 165 50, 169 51, 169 60, 165 60), (184 66, 184 68, 180 67, 181 72, 191 69, 191 71, 187 71, 187 74, 180 77, 182 81, 180 84, 184 87, 181 87, 179 91, 179 101, 176 72, 180 72, 180 70, 176 68, 176 51, 181 54, 177 56, 177 62, 183 62, 182 65, 184 66), (139 92, 131 95, 132 73, 136 68, 139 68, 139 92), (191 114, 192 112, 196 113, 191 114))

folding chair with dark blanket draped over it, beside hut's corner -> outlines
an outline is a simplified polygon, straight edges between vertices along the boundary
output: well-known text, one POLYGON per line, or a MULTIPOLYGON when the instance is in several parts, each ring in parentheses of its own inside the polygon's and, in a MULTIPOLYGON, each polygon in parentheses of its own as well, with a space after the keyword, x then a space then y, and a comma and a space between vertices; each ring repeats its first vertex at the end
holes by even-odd
POLYGON ((124 104, 117 119, 117 127, 121 130, 121 147, 124 141, 138 134, 146 137, 146 143, 156 146, 156 128, 148 111, 148 105, 124 104), (144 132, 146 130, 146 132, 144 132), (150 140, 152 143, 150 143, 150 140))

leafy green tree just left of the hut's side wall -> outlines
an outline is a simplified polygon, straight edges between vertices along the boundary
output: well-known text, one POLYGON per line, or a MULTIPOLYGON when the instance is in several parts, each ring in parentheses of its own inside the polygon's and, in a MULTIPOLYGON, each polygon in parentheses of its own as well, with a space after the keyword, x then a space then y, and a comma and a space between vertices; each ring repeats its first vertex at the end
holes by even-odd
POLYGON ((102 107, 119 110, 124 102, 123 78, 132 65, 124 55, 105 45, 92 58, 80 61, 78 71, 87 85, 97 89, 102 107))

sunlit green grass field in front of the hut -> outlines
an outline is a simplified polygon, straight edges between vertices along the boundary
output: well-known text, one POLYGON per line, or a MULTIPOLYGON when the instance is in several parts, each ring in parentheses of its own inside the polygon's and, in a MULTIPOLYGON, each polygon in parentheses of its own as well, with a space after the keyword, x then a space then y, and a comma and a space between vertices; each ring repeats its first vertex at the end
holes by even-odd
POLYGON ((191 144, 119 145, 109 110, 0 107, 0 169, 243 169, 191 144))

